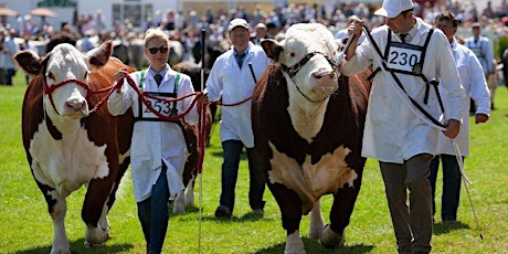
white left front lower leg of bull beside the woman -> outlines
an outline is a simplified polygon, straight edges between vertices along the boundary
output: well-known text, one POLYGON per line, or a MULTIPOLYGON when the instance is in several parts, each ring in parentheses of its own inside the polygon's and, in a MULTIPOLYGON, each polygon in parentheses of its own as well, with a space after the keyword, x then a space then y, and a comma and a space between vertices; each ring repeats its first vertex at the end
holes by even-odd
POLYGON ((65 214, 67 202, 55 190, 45 192, 47 209, 53 220, 53 246, 51 254, 71 253, 67 233, 65 232, 65 214))

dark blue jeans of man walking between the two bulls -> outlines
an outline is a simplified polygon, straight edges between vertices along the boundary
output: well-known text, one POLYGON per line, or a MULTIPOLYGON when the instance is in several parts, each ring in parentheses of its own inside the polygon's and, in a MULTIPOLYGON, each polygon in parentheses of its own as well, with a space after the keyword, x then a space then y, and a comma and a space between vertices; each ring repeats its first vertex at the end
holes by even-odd
MULTIPOLYGON (((221 205, 224 205, 233 212, 234 208, 234 189, 239 178, 240 156, 244 145, 240 140, 225 140, 222 142, 224 151, 224 162, 222 163, 222 193, 221 205)), ((265 179, 261 170, 260 160, 254 148, 246 148, 250 172, 248 203, 251 208, 263 209, 265 201, 263 193, 265 191, 265 179)))

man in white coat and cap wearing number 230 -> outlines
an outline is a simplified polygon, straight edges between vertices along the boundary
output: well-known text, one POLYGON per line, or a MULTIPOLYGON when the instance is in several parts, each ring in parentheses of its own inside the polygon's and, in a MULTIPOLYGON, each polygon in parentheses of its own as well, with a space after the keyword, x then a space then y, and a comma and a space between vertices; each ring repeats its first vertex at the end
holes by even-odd
MULTIPOLYGON (((399 253, 430 253, 428 166, 437 154, 440 130, 449 138, 458 134, 465 93, 446 36, 413 14, 411 0, 384 0, 374 14, 384 17, 385 25, 367 33, 358 46, 351 42, 341 72, 348 76, 370 65, 377 70, 362 156, 379 160, 399 253), (448 92, 446 119, 434 80, 448 92)), ((361 20, 349 25, 354 40, 362 27, 361 20)))

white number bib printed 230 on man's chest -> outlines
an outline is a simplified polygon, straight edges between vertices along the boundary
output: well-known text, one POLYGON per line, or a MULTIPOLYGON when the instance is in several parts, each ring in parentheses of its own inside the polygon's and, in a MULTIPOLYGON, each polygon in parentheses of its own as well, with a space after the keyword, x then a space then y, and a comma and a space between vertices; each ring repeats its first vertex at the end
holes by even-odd
POLYGON ((388 54, 388 67, 395 72, 422 73, 422 52, 423 47, 419 45, 391 42, 388 54))

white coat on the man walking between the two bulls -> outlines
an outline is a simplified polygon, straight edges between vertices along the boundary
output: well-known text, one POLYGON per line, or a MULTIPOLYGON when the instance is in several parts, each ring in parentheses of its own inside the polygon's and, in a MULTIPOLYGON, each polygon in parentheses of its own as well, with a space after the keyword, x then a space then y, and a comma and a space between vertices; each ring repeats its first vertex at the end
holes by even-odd
MULTIPOLYGON (((240 70, 233 52, 234 50, 232 49, 219 56, 210 72, 204 91, 212 102, 221 99, 221 96, 223 104, 235 104, 250 98, 254 91, 255 82, 248 63, 252 62, 256 81, 261 78, 269 63, 269 59, 266 57, 263 49, 250 42, 248 53, 240 70)), ((222 106, 221 113, 221 141, 241 140, 245 147, 254 147, 251 100, 236 106, 222 106)))

